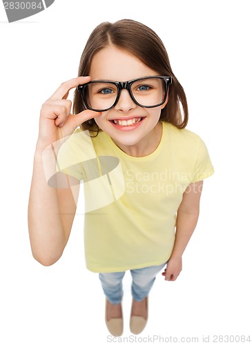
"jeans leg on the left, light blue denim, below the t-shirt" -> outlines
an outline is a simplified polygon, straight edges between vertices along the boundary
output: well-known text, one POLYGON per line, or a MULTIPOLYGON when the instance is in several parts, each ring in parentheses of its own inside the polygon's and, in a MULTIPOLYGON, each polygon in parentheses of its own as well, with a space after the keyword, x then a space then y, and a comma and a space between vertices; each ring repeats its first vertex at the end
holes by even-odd
POLYGON ((104 293, 110 303, 122 302, 122 279, 125 272, 99 273, 99 279, 104 293))

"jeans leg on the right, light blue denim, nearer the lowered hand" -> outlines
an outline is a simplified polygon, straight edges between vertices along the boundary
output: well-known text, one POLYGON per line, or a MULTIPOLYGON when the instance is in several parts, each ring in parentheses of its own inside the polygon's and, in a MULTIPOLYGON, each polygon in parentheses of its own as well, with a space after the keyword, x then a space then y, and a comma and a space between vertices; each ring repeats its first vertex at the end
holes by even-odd
POLYGON ((150 266, 139 268, 137 270, 130 270, 133 278, 131 292, 135 301, 140 302, 142 299, 148 296, 148 293, 155 282, 157 273, 159 273, 159 270, 162 270, 165 264, 166 262, 159 266, 150 266))

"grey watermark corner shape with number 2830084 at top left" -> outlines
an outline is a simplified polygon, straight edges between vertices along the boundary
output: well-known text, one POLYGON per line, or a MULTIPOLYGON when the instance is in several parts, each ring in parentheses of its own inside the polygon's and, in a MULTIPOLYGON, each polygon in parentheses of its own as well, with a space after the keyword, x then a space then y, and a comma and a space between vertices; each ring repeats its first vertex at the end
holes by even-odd
POLYGON ((55 0, 30 0, 30 1, 4 1, 3 7, 6 10, 9 23, 19 21, 43 10, 46 10, 55 0))

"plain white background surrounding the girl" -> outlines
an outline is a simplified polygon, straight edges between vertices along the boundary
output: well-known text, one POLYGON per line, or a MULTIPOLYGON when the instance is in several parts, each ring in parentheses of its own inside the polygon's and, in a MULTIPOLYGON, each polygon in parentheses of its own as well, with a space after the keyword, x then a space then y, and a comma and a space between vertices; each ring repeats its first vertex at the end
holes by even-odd
MULTIPOLYGON (((252 333, 250 2, 55 0, 17 23, 8 23, 1 6, 0 344, 111 340, 98 276, 84 262, 83 216, 59 262, 44 267, 31 255, 27 207, 41 104, 77 76, 93 28, 124 18, 142 21, 164 41, 188 97, 187 128, 204 139, 215 167, 182 273, 176 282, 157 277, 148 326, 135 342, 157 335, 202 344, 210 335, 212 344, 213 335, 252 333)), ((124 290, 130 342, 129 275, 124 290)))

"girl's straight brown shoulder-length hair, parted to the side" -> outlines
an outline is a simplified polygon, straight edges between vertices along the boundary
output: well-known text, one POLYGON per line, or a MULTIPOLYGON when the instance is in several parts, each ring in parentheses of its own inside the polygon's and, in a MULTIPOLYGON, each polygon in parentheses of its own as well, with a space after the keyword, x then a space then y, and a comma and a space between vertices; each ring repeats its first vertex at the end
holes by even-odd
MULTIPOLYGON (((159 75, 169 75, 173 82, 168 90, 168 103, 161 110, 160 121, 170 122, 177 128, 185 128, 188 122, 188 106, 184 89, 173 74, 164 43, 157 34, 142 23, 123 19, 115 23, 99 24, 90 34, 81 55, 78 76, 87 76, 94 55, 106 46, 114 45, 127 50, 159 75), (181 107, 183 109, 183 116, 181 107)), ((75 90, 73 113, 85 108, 81 93, 75 90)), ((94 119, 84 122, 81 127, 99 132, 94 119)))

